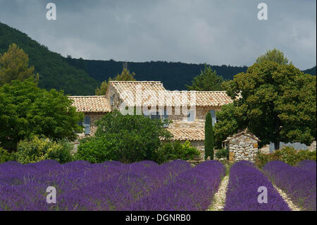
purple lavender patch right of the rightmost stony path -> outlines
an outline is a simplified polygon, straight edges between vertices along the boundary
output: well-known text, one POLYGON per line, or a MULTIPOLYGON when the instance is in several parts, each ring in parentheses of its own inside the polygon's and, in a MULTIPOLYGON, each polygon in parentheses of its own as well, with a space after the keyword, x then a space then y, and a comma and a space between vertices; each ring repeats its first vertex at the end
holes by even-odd
POLYGON ((316 211, 315 161, 305 160, 298 166, 280 161, 268 162, 263 173, 302 210, 316 211))

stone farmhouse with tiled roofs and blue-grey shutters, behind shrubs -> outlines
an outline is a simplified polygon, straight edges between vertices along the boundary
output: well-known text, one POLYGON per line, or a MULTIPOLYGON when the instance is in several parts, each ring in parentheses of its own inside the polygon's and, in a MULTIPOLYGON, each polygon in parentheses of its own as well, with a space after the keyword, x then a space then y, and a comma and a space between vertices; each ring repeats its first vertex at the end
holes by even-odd
POLYGON ((77 111, 85 114, 85 133, 94 135, 95 121, 108 112, 118 109, 128 113, 137 109, 150 118, 168 118, 173 123, 166 129, 173 140, 189 140, 204 156, 204 125, 210 111, 213 124, 216 111, 232 99, 224 91, 169 91, 160 81, 110 81, 104 96, 70 96, 77 111))

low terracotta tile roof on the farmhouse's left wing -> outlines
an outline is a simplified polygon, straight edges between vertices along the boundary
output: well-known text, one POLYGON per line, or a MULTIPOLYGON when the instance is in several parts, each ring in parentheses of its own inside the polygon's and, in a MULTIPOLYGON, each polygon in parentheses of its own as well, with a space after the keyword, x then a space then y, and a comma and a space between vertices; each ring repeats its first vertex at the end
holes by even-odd
POLYGON ((106 96, 69 96, 72 99, 73 106, 77 111, 82 112, 109 112, 111 111, 106 96))

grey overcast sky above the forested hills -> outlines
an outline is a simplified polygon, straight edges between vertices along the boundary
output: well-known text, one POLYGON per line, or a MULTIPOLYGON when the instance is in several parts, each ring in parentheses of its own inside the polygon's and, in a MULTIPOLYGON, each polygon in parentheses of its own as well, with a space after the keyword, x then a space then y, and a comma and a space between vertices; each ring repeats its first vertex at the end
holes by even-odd
POLYGON ((75 58, 250 66, 276 47, 300 69, 316 65, 316 0, 0 0, 0 21, 75 58))

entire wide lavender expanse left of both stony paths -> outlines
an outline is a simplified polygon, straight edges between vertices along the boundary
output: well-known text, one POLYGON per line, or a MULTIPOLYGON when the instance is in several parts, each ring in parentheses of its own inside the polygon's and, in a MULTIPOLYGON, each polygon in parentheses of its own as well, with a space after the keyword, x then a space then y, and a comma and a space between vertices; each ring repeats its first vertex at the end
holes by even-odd
POLYGON ((218 162, 191 169, 189 163, 180 160, 161 166, 149 161, 7 162, 0 164, 0 210, 206 209, 224 171, 218 162), (48 186, 56 188, 56 204, 46 202, 48 186), (201 187, 206 188, 205 193, 201 193, 201 187), (158 205, 154 199, 163 195, 170 202, 158 205))

